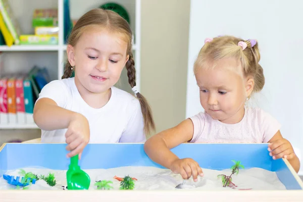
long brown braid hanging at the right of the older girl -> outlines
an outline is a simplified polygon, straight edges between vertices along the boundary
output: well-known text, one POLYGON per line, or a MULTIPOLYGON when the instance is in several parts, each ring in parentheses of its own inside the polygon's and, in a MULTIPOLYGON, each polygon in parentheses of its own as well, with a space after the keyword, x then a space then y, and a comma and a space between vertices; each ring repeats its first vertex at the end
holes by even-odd
MULTIPOLYGON (((128 83, 133 88, 136 86, 136 69, 132 53, 129 54, 129 59, 125 67, 127 70, 128 83)), ((147 103, 147 100, 141 93, 137 92, 136 96, 139 99, 142 115, 144 118, 144 131, 146 134, 149 134, 151 130, 155 130, 155 122, 151 113, 151 109, 147 103)))

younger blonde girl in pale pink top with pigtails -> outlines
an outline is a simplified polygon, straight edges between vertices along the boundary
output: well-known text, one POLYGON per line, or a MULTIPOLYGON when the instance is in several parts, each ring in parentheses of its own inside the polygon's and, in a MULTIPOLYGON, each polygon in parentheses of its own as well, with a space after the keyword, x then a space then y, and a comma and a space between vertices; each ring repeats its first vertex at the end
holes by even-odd
POLYGON ((203 171, 190 158, 179 159, 170 149, 184 142, 262 143, 269 142, 273 159, 285 158, 296 172, 298 157, 280 133, 280 124, 259 108, 245 106, 252 93, 265 84, 259 65, 256 40, 233 36, 207 38, 194 63, 200 104, 205 112, 160 132, 144 143, 149 158, 162 166, 197 180, 203 171))

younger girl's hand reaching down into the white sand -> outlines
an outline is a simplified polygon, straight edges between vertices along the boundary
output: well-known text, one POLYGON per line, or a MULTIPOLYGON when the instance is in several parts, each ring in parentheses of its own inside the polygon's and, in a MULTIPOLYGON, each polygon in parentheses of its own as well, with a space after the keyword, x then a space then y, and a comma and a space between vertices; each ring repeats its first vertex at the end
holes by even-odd
POLYGON ((193 159, 177 159, 172 162, 170 169, 175 174, 180 174, 183 179, 188 179, 192 176, 193 181, 197 181, 197 176, 203 176, 203 171, 200 168, 199 164, 193 159))

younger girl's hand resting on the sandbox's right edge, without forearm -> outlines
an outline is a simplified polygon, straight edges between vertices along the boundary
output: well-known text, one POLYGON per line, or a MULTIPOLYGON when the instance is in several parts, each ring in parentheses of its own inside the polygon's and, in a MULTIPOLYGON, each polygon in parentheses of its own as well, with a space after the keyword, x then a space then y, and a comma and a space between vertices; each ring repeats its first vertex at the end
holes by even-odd
POLYGON ((285 158, 291 160, 296 157, 290 142, 285 138, 269 143, 268 150, 270 151, 269 155, 273 157, 273 159, 285 158))

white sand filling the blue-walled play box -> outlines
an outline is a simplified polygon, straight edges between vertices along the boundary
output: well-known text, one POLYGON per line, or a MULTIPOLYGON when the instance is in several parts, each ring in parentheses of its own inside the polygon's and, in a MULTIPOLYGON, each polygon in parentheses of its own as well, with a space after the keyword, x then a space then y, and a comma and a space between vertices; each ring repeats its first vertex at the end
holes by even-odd
MULTIPOLYGON (((22 168, 26 172, 32 172, 39 175, 48 175, 49 172, 55 173, 57 184, 53 187, 46 184, 44 180, 38 180, 35 184, 28 186, 29 189, 63 189, 62 186, 66 186, 66 170, 50 170, 41 168, 22 168)), ((7 171, 6 174, 20 176, 20 170, 7 171)), ((111 180, 111 184, 114 189, 119 189, 120 182, 113 177, 124 177, 129 175, 138 179, 135 181, 135 190, 283 190, 285 186, 280 182, 275 172, 267 171, 260 168, 250 168, 240 170, 238 175, 232 175, 232 182, 237 187, 222 187, 221 179, 217 178, 219 174, 230 175, 231 170, 210 170, 203 169, 204 177, 198 177, 198 181, 194 182, 192 178, 185 181, 183 189, 176 189, 175 187, 183 182, 180 175, 173 174, 171 170, 160 169, 155 167, 119 167, 112 169, 90 169, 84 170, 91 179, 89 189, 96 189, 94 186, 95 181, 98 180, 111 180)), ((14 189, 16 186, 8 184, 3 177, 0 177, 0 189, 14 189)))

